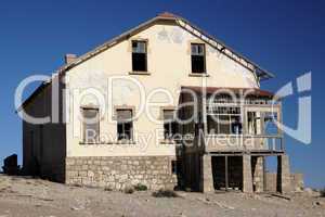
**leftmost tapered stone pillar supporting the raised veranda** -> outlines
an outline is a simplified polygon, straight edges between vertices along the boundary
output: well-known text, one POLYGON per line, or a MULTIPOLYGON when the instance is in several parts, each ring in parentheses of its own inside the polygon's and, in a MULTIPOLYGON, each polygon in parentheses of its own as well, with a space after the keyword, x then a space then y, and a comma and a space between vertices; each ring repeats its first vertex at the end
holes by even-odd
POLYGON ((203 171, 202 171, 202 191, 204 193, 213 192, 213 175, 211 155, 203 155, 203 171))

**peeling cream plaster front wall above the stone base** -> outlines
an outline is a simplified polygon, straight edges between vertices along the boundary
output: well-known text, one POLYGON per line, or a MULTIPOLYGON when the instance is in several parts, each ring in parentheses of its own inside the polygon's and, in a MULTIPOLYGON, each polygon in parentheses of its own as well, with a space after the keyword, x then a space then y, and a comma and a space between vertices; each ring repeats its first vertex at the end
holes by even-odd
MULTIPOLYGON (((191 42, 199 41, 190 33, 179 26, 154 25, 140 34, 132 36, 101 54, 83 62, 67 72, 67 89, 69 91, 66 112, 69 122, 66 128, 67 156, 132 156, 132 155, 174 155, 174 145, 157 142, 155 130, 162 130, 162 123, 151 122, 142 114, 133 122, 133 130, 147 136, 147 146, 143 141, 135 141, 133 145, 116 144, 116 140, 109 140, 110 144, 81 145, 81 123, 77 115, 80 106, 98 104, 101 111, 104 105, 98 103, 92 97, 84 97, 80 102, 76 90, 82 91, 94 88, 107 98, 108 78, 114 75, 135 78, 145 87, 148 95, 156 88, 164 88, 172 93, 172 102, 164 93, 153 97, 155 102, 167 102, 159 106, 177 106, 179 101, 178 91, 182 86, 200 86, 203 79, 207 79, 207 86, 211 87, 258 87, 251 72, 235 63, 217 50, 206 44, 206 68, 208 77, 193 77, 191 74, 191 42), (131 40, 146 39, 148 41, 147 67, 150 75, 129 75, 131 72, 131 40)), ((202 42, 202 41, 199 41, 202 42)), ((108 91, 109 93, 110 91, 108 91)), ((100 123, 101 135, 116 136, 116 122, 108 120, 113 106, 134 106, 135 112, 140 108, 139 90, 130 81, 118 81, 113 86, 113 103, 103 115, 100 123)), ((156 118, 159 117, 160 108, 151 110, 156 118)))

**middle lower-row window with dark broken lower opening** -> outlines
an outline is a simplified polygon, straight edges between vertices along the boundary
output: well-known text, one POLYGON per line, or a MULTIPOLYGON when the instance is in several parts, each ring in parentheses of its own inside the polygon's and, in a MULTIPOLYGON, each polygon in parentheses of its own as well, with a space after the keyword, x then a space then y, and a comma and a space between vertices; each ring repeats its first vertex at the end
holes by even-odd
POLYGON ((132 140, 132 110, 117 110, 117 140, 132 140))

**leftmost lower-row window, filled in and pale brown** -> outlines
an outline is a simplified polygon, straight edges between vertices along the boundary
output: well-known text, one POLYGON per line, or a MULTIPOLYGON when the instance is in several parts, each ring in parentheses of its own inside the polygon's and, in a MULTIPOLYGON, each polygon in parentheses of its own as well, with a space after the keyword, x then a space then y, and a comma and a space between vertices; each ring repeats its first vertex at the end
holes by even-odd
POLYGON ((81 108, 82 136, 84 143, 96 143, 100 138, 100 114, 99 108, 81 108))

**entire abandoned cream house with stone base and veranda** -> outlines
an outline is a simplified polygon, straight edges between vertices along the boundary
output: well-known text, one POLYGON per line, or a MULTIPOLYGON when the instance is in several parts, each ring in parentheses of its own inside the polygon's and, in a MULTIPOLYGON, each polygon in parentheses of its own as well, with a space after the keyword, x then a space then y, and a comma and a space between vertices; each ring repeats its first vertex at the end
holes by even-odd
POLYGON ((143 183, 150 189, 261 192, 270 184, 265 158, 275 156, 272 189, 288 192, 294 175, 274 123, 282 123, 282 104, 260 89, 260 81, 272 77, 183 17, 159 14, 83 55, 67 54, 65 64, 23 103, 17 111, 25 111, 23 170, 113 189, 143 183), (136 115, 144 102, 134 80, 159 102, 151 111, 158 122, 136 115), (171 100, 165 103, 167 94, 156 88, 169 91, 171 100), (76 90, 79 98, 73 95, 76 90), (109 103, 94 99, 95 91, 109 103), (35 124, 27 115, 50 120, 35 124), (190 116, 195 118, 176 120, 190 116), (87 117, 95 122, 83 122, 87 117), (95 135, 92 140, 89 131, 95 135))

